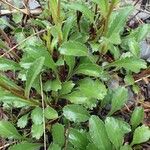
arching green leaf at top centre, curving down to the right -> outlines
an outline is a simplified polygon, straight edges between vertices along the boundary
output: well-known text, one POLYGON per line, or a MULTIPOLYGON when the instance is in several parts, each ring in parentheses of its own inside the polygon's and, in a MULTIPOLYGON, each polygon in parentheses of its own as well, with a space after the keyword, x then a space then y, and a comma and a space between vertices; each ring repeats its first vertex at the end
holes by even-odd
POLYGON ((73 9, 76 11, 78 10, 78 11, 82 12, 87 19, 89 19, 91 22, 93 22, 94 13, 84 3, 81 4, 78 2, 74 2, 72 4, 67 5, 67 8, 70 8, 70 9, 73 9))

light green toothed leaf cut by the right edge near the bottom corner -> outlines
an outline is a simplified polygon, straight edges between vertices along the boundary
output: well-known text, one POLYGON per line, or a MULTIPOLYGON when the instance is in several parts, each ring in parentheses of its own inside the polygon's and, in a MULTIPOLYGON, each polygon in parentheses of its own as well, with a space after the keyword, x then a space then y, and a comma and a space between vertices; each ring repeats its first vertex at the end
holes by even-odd
POLYGON ((142 125, 141 127, 135 129, 131 146, 135 144, 144 143, 149 139, 150 139, 150 129, 147 126, 142 125))

